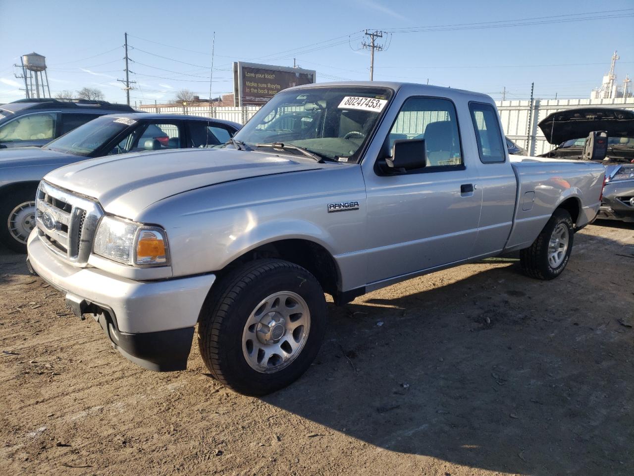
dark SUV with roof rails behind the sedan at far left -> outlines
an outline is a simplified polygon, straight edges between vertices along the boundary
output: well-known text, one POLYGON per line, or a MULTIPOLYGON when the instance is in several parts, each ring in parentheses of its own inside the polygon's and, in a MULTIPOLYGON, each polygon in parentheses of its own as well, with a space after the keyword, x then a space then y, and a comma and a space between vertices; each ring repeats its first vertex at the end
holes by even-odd
POLYGON ((105 101, 29 99, 0 105, 0 149, 42 145, 104 114, 134 112, 105 101))

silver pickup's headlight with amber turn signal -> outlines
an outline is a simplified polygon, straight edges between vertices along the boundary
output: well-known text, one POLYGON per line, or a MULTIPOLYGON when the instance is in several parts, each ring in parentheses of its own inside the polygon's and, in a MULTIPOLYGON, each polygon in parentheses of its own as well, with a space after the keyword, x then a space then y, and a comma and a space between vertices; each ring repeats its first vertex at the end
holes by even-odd
POLYGON ((165 230, 113 216, 101 218, 93 252, 129 266, 165 266, 169 249, 165 230))

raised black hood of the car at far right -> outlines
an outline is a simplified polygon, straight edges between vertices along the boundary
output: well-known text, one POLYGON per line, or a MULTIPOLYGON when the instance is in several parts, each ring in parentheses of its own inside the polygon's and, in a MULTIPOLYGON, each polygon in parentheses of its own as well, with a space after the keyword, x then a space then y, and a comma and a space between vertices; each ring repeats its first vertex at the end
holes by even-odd
POLYGON ((607 107, 583 107, 548 114, 538 126, 549 143, 587 137, 592 131, 607 131, 608 137, 634 137, 634 111, 607 107))

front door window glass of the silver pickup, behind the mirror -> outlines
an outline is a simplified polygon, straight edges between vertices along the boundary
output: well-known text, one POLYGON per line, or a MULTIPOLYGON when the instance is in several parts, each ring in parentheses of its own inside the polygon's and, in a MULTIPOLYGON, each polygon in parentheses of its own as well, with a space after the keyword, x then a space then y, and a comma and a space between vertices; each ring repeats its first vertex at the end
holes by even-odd
POLYGON ((389 132, 389 146, 395 140, 425 139, 427 166, 462 166, 462 149, 456 109, 447 99, 406 100, 389 132))

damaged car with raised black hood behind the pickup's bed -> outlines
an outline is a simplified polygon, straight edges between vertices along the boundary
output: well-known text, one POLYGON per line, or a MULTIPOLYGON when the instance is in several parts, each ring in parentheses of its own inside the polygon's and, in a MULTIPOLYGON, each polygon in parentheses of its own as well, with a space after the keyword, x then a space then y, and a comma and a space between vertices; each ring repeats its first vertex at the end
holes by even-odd
POLYGON ((605 188, 597 218, 634 222, 634 111, 583 107, 553 112, 539 127, 551 144, 543 157, 583 160, 593 131, 607 133, 605 188))

